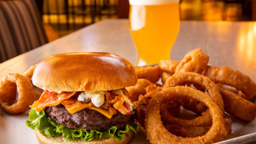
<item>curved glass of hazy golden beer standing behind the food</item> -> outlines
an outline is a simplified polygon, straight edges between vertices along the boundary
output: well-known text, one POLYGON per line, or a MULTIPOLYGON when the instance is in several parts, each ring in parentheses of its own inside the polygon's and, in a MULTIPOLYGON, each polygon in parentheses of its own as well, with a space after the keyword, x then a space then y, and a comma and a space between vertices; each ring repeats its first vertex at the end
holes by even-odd
POLYGON ((179 33, 179 0, 129 0, 129 28, 137 48, 137 66, 170 59, 179 33))

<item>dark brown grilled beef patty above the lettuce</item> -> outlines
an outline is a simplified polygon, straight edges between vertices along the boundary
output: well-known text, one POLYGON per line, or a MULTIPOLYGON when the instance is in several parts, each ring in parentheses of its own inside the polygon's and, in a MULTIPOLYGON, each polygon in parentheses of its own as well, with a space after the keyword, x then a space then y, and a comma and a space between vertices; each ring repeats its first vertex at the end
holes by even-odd
POLYGON ((46 107, 44 112, 51 119, 55 120, 55 122, 65 125, 66 127, 98 131, 110 129, 110 127, 113 126, 116 126, 117 129, 123 128, 126 124, 133 124, 136 116, 136 110, 133 110, 131 114, 121 114, 117 112, 112 118, 107 118, 100 114, 100 112, 88 108, 75 112, 75 114, 69 114, 67 109, 61 104, 46 107))

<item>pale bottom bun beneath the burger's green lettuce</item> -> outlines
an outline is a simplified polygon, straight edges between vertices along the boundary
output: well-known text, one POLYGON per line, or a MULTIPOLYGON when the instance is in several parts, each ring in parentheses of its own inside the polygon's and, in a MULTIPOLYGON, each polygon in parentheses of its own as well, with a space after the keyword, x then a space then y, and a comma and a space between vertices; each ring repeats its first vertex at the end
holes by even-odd
POLYGON ((117 142, 113 138, 109 139, 99 139, 93 141, 84 141, 84 140, 74 140, 74 141, 67 141, 64 137, 57 136, 57 137, 49 137, 44 133, 40 133, 40 131, 36 131, 36 138, 38 139, 40 144, 109 144, 109 143, 117 143, 117 144, 125 144, 128 143, 134 136, 134 132, 131 131, 131 137, 125 135, 125 140, 117 142))

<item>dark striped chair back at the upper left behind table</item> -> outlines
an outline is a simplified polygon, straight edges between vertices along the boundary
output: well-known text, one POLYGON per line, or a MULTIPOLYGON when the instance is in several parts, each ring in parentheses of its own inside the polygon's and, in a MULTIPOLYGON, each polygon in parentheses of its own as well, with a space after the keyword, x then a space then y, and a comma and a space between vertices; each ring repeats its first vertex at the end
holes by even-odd
POLYGON ((46 42, 35 1, 0 1, 0 62, 46 42))

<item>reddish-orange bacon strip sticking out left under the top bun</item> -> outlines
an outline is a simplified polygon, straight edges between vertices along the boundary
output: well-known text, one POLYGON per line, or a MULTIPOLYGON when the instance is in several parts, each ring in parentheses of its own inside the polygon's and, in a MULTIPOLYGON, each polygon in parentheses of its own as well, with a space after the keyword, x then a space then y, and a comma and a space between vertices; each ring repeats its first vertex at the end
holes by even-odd
POLYGON ((57 94, 55 92, 49 92, 45 90, 40 96, 39 100, 35 101, 31 106, 36 111, 44 110, 46 106, 57 106, 63 100, 67 100, 74 96, 76 92, 62 92, 61 94, 57 94))

